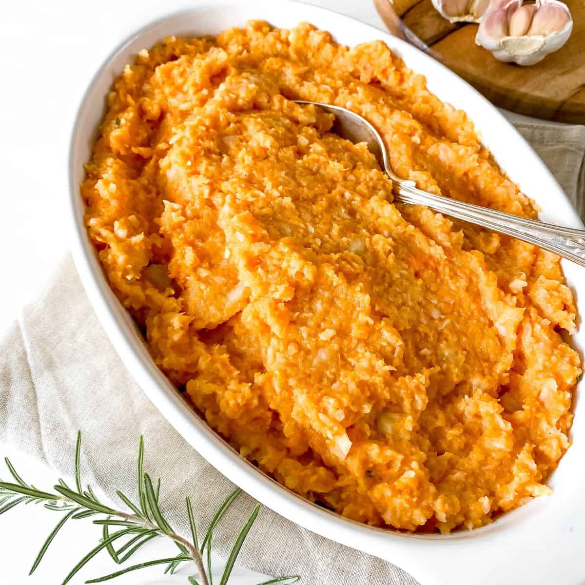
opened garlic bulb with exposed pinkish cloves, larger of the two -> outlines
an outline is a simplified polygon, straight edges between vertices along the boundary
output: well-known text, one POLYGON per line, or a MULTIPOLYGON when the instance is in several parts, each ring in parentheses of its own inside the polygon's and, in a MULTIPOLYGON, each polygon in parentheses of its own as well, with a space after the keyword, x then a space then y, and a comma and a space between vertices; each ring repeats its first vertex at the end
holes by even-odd
POLYGON ((477 29, 476 44, 498 61, 534 65, 558 51, 569 39, 573 18, 558 0, 493 0, 477 29))

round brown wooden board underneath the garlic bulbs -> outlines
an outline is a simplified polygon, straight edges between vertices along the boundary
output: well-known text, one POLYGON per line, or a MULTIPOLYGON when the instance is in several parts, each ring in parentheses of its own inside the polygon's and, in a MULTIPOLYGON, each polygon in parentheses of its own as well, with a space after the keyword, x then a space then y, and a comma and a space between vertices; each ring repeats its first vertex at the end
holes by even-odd
POLYGON ((585 124, 585 1, 565 0, 573 33, 556 53, 532 67, 500 63, 475 44, 476 24, 445 20, 431 0, 374 0, 390 32, 394 8, 428 52, 469 81, 493 104, 536 118, 585 124))

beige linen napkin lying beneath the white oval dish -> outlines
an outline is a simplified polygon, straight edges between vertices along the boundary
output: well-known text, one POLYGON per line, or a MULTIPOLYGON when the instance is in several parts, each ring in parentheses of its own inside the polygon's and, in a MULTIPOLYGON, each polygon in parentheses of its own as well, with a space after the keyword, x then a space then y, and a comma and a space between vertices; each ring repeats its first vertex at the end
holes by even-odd
MULTIPOLYGON (((573 202, 584 199, 585 127, 518 126, 573 202)), ((582 209, 581 209, 582 211, 582 209)), ((77 429, 85 480, 115 500, 114 487, 133 494, 132 472, 141 433, 146 470, 163 478, 161 501, 173 525, 188 534, 184 497, 199 526, 207 525, 232 484, 177 434, 126 371, 91 308, 70 257, 0 342, 0 444, 71 476, 77 429)), ((223 556, 252 508, 242 495, 217 531, 223 556)), ((415 585, 407 573, 347 548, 263 508, 239 562, 266 574, 302 575, 316 585, 415 585)), ((422 560, 421 562, 424 562, 422 560)))

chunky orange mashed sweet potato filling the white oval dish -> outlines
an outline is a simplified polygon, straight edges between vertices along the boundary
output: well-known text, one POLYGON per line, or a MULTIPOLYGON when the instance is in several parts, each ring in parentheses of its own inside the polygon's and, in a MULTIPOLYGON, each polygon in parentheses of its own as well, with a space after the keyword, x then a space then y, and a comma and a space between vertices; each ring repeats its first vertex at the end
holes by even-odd
POLYGON ((393 204, 365 116, 419 187, 534 204, 382 42, 250 22, 142 50, 81 187, 113 290, 208 424, 358 521, 474 528, 549 493, 569 441, 576 311, 559 258, 393 204))

